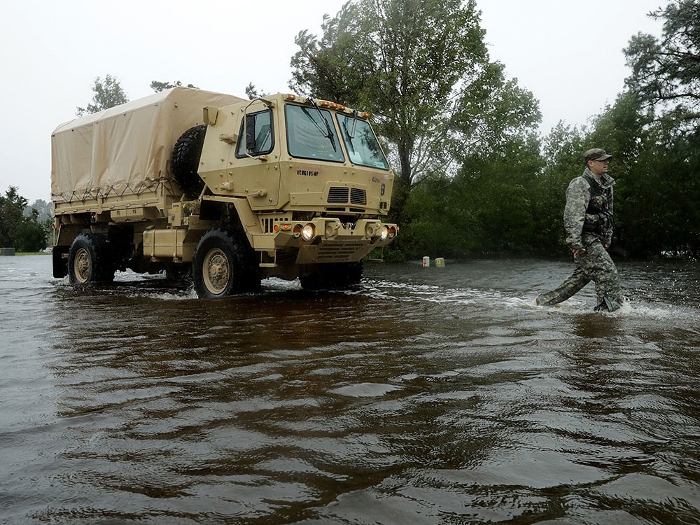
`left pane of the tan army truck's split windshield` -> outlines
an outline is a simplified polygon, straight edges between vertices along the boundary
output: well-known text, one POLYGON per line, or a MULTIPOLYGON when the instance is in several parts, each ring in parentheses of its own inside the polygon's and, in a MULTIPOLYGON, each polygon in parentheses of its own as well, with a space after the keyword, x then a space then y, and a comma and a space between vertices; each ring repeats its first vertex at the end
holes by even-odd
POLYGON ((293 157, 345 162, 342 149, 329 128, 330 111, 287 104, 287 147, 293 157))

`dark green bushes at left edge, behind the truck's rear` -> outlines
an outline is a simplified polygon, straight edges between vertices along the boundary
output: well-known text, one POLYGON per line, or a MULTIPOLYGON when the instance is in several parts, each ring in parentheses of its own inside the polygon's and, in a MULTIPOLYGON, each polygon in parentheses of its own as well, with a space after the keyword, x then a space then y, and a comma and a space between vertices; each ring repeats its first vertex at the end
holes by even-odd
POLYGON ((17 251, 41 251, 48 244, 50 221, 40 221, 39 211, 27 209, 27 199, 10 186, 0 195, 0 246, 13 247, 17 251))

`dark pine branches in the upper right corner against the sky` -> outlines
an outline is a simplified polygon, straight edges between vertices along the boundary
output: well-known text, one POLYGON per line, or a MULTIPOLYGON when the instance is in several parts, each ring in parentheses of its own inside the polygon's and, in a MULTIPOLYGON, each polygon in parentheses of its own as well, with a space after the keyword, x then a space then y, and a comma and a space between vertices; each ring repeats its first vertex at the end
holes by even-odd
POLYGON ((650 113, 675 120, 685 131, 700 130, 700 1, 671 0, 650 13, 663 19, 661 39, 637 34, 624 50, 631 92, 650 113))

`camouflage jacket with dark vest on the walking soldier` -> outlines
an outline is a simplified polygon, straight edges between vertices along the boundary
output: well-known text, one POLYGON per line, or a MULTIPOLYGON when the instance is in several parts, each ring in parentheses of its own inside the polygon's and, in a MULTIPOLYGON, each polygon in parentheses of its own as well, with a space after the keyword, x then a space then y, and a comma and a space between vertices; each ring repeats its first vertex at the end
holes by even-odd
MULTIPOLYGON (((615 179, 603 174, 601 180, 586 168, 580 177, 569 183, 564 207, 564 231, 566 244, 572 250, 588 246, 599 240, 603 244, 612 241, 612 185, 615 179), (591 186, 596 185, 599 191, 591 186), (594 193, 599 195, 594 195, 594 193), (601 202, 592 202, 591 197, 601 202), (606 218, 591 213, 593 208, 604 209, 606 218), (586 228, 584 228, 584 225, 586 228)), ((603 215, 603 214, 601 214, 603 215)))

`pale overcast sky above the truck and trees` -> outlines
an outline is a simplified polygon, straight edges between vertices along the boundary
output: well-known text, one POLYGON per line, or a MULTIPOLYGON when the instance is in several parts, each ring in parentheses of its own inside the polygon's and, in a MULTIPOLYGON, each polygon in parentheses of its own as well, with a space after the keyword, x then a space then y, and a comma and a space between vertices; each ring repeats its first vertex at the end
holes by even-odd
MULTIPOLYGON (((12 0, 0 7, 0 193, 50 200, 52 130, 115 76, 129 99, 151 80, 245 96, 288 90, 294 37, 321 34, 345 0, 12 0)), ((666 0, 477 0, 491 59, 540 100, 546 134, 615 102, 629 71, 622 49, 666 0)), ((343 102, 343 101, 338 101, 343 102)), ((604 145, 602 145, 604 146, 604 145)))

